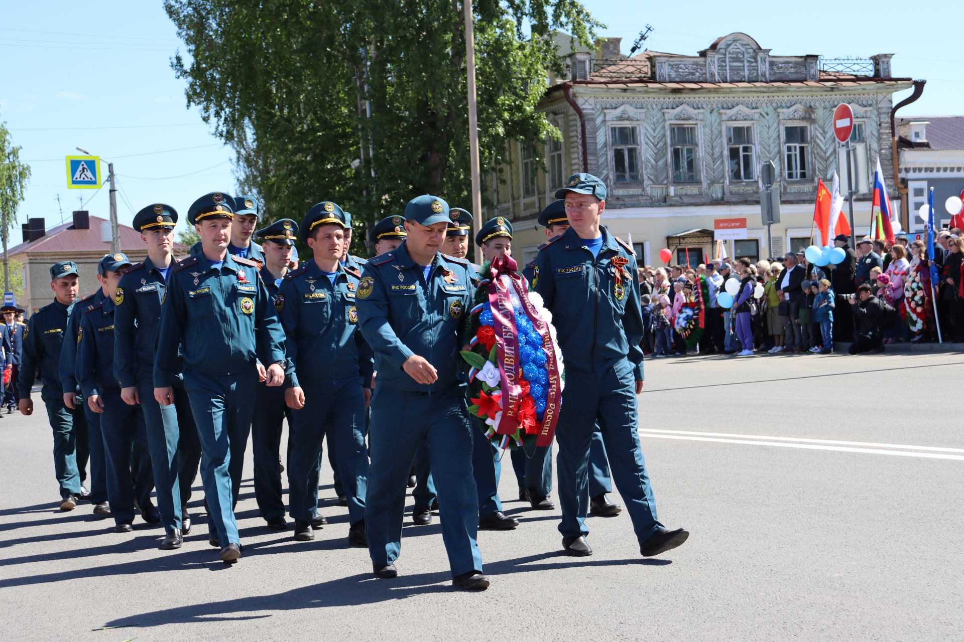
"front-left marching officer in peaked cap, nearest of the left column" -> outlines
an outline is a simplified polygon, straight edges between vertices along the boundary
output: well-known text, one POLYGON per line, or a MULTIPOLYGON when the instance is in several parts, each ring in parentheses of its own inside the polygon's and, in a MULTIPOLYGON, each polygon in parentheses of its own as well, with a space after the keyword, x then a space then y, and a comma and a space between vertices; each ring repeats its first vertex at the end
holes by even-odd
POLYGON ((257 264, 228 253, 232 217, 224 193, 205 194, 189 208, 201 253, 174 267, 154 362, 154 398, 171 405, 183 342, 184 389, 201 440, 208 542, 228 563, 241 556, 234 503, 257 381, 280 386, 286 364, 284 333, 257 264))

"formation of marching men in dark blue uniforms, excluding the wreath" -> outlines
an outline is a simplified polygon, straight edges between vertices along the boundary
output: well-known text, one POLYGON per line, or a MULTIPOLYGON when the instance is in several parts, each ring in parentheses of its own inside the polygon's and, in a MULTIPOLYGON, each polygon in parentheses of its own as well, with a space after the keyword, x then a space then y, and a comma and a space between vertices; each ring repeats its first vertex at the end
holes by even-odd
MULTIPOLYGON (((656 519, 636 433, 644 379, 635 257, 600 222, 605 196, 597 177, 570 177, 539 216, 548 241, 523 274, 552 313, 564 359, 555 433, 563 551, 592 554, 586 516, 622 510, 606 498, 611 470, 640 553, 651 556, 688 532, 656 519)), ((118 532, 140 515, 164 527, 162 550, 178 549, 200 466, 208 541, 233 563, 243 550, 234 509, 249 435, 258 514, 276 530, 292 526, 287 514, 298 541, 327 524, 318 512, 327 444, 348 545, 367 547, 376 577, 398 574, 414 485, 412 520, 429 524, 439 511, 453 585, 487 588, 477 530, 520 521, 502 512, 501 451, 469 416, 459 351, 486 278, 467 258, 469 243, 486 261, 511 255, 512 223, 492 218, 473 238, 467 210, 425 194, 371 228, 376 256, 364 260, 349 253, 351 215, 332 201, 300 223, 256 229, 259 212, 252 196, 201 196, 187 211, 201 241, 175 261, 178 214, 148 205, 133 223, 143 263, 105 256, 100 288, 76 300, 77 266, 60 262, 50 268, 54 300, 26 326, 14 306, 0 310, 3 404, 12 412, 16 400, 30 415, 39 375, 61 509, 90 501, 118 532), (300 264, 296 240, 312 251, 300 264)), ((511 453, 520 500, 536 510, 555 507, 551 448, 511 453)))

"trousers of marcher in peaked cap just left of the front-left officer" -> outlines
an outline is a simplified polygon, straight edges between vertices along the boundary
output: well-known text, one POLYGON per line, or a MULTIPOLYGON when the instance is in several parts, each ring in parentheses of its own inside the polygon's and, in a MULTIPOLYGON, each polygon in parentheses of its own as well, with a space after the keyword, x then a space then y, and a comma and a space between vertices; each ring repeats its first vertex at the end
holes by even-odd
POLYGON ((201 441, 191 403, 180 380, 174 382, 174 403, 162 406, 154 398, 149 372, 140 373, 137 394, 147 425, 147 450, 154 472, 157 510, 165 528, 180 528, 191 486, 201 462, 201 441))

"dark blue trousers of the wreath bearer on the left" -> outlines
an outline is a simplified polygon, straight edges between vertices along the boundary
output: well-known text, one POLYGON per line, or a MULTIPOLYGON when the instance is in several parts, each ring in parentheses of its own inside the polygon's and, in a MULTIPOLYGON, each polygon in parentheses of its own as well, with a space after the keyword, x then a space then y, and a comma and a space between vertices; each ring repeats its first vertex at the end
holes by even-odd
POLYGON ((415 451, 427 444, 432 475, 438 484, 442 541, 451 573, 482 572, 482 554, 475 539, 479 506, 472 476, 474 429, 469 424, 462 386, 431 395, 382 385, 375 388, 365 501, 365 531, 373 563, 388 564, 398 558, 405 481, 415 451))

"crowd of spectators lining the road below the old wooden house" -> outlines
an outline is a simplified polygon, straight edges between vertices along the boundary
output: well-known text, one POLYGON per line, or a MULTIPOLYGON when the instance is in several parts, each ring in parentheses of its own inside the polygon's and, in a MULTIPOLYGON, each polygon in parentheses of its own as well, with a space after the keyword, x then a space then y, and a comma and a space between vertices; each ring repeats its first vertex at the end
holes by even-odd
POLYGON ((818 267, 803 251, 757 261, 716 259, 692 268, 639 269, 643 347, 656 358, 698 352, 828 354, 883 351, 901 342, 964 342, 964 235, 923 241, 834 240, 844 261, 818 267), (938 281, 931 288, 931 264, 938 281), (727 281, 736 280, 728 286, 727 281), (720 303, 733 303, 727 307, 720 303), (733 294, 736 293, 736 294, 733 294))

